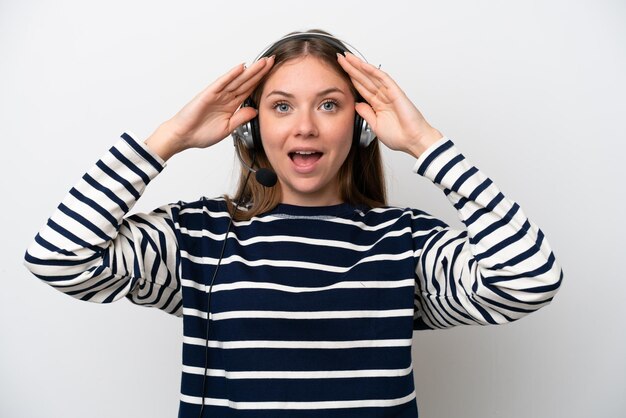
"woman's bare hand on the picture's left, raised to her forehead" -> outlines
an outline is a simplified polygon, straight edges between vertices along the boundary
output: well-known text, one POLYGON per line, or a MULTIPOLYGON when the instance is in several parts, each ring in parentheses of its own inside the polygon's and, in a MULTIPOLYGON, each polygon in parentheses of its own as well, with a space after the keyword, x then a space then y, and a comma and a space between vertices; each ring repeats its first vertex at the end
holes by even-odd
POLYGON ((226 138, 257 110, 242 107, 274 58, 261 58, 250 68, 240 64, 201 91, 176 115, 159 126, 145 143, 164 160, 188 148, 206 148, 226 138))

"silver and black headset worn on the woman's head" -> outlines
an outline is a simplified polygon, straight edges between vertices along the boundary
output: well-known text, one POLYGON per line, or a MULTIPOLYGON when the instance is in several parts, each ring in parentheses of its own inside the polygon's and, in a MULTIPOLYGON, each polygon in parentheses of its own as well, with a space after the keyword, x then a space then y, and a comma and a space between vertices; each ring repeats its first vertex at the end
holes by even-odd
MULTIPOLYGON (((343 54, 347 50, 346 45, 349 45, 350 52, 352 51, 356 52, 365 62, 367 62, 365 57, 356 48, 354 48, 347 42, 341 41, 340 39, 332 35, 318 33, 318 32, 296 32, 296 33, 286 35, 280 38, 279 40, 273 42, 268 47, 266 47, 263 50, 263 52, 261 52, 254 59, 254 62, 258 61, 261 58, 272 56, 274 51, 276 51, 276 49, 278 49, 284 43, 291 41, 291 40, 295 40, 295 39, 305 39, 305 40, 306 39, 321 39, 325 41, 326 43, 328 43, 329 45, 333 46, 337 50, 337 52, 340 54, 343 54)), ((363 98, 360 97, 360 95, 356 99, 357 101, 363 101, 363 98)), ((247 107, 247 106, 256 108, 256 104, 252 100, 252 97, 246 98, 246 100, 243 102, 242 107, 247 107)), ((235 130, 232 133, 232 137, 235 142, 235 145, 237 145, 238 142, 241 142, 246 149, 249 149, 249 150, 261 149, 262 148, 261 130, 259 128, 258 116, 256 116, 254 119, 250 120, 249 122, 244 123, 243 125, 240 125, 237 128, 235 128, 235 130)), ((374 133, 374 131, 372 131, 369 124, 361 117, 361 115, 359 115, 357 112, 354 112, 354 133, 352 137, 353 143, 358 144, 360 147, 366 148, 375 139, 376 139, 376 134, 374 133)), ((240 156, 239 156, 239 159, 241 160, 240 156)), ((250 169, 250 167, 248 167, 246 164, 244 165, 250 169)))

